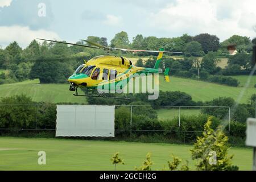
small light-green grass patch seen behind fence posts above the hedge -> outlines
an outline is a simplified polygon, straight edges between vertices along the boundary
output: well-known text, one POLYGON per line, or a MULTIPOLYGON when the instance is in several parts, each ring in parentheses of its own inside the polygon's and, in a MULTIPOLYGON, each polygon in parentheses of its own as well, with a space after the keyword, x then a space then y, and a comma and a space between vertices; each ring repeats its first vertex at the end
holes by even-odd
MULTIPOLYGON (((158 118, 159 119, 172 119, 175 117, 179 117, 179 109, 158 109, 156 110, 158 113, 158 118)), ((200 109, 180 109, 180 114, 181 115, 197 115, 200 114, 201 110, 200 109)))

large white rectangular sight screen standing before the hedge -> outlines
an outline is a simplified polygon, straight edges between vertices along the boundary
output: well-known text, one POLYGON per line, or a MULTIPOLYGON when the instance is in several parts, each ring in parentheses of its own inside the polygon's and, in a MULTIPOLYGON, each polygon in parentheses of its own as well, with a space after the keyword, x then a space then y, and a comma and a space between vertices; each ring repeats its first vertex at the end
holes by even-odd
POLYGON ((57 105, 56 137, 114 137, 115 106, 57 105))

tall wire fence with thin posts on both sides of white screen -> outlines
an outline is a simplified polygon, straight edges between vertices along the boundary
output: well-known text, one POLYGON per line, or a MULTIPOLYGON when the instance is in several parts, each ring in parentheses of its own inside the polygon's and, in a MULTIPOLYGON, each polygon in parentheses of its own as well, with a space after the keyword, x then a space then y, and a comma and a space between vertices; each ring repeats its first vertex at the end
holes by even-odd
MULTIPOLYGON (((201 136, 209 115, 221 110, 225 117, 213 120, 213 128, 224 126, 230 143, 243 141, 245 133, 230 127, 230 107, 116 105, 115 138, 141 142, 192 143, 201 136)), ((55 137, 56 105, 0 105, 0 135, 11 137, 55 137)))

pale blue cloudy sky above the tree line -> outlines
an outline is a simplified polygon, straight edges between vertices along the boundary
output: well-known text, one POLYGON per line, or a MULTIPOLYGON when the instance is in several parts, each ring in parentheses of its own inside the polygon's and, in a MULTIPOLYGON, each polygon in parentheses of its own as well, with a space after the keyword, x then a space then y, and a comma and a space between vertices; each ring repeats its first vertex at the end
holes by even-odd
POLYGON ((23 48, 35 38, 77 42, 126 31, 143 36, 185 33, 256 37, 255 0, 0 0, 0 46, 16 40, 23 48))

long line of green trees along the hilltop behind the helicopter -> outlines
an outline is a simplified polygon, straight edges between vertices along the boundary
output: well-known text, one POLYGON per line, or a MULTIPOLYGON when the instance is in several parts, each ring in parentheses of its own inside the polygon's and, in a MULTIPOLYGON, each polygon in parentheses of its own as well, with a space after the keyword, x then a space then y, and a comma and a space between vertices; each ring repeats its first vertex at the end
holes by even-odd
MULTIPOLYGON (((163 47, 167 51, 183 52, 181 60, 174 60, 168 55, 164 55, 164 64, 171 68, 171 72, 178 76, 198 77, 203 80, 213 82, 229 83, 230 80, 224 78, 208 78, 209 75, 238 75, 247 74, 251 70, 250 57, 251 45, 250 38, 245 36, 233 35, 229 39, 220 43, 216 35, 199 34, 190 36, 184 34, 176 38, 156 38, 155 36, 136 35, 132 42, 126 32, 117 33, 110 44, 106 38, 97 36, 88 36, 87 40, 102 44, 103 46, 133 48, 133 49, 151 49, 157 50, 163 47), (238 54, 229 56, 226 46, 237 44, 238 54), (199 57, 203 56, 203 60, 199 57), (217 66, 220 61, 218 57, 228 57, 228 66, 221 69, 217 66), (183 63, 184 62, 184 63, 183 63)), ((77 42, 78 44, 86 44, 77 42)), ((67 46, 60 43, 38 43, 33 40, 28 47, 22 49, 17 42, 12 42, 5 49, 0 49, 0 69, 7 70, 0 72, 0 84, 5 82, 17 82, 27 79, 39 78, 41 83, 59 83, 67 82, 67 77, 73 70, 82 63, 84 59, 97 55, 104 55, 100 49, 84 48, 78 46, 67 46)), ((114 55, 125 55, 133 57, 133 53, 114 51, 114 55)), ((138 56, 148 56, 148 53, 138 53, 138 56)), ((153 56, 156 56, 156 54, 153 56)), ((154 67, 154 61, 137 65, 145 67, 154 67)), ((236 81, 232 80, 233 86, 236 81)))

